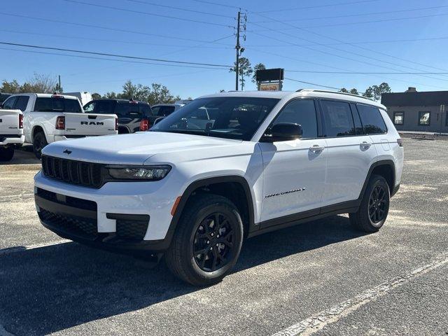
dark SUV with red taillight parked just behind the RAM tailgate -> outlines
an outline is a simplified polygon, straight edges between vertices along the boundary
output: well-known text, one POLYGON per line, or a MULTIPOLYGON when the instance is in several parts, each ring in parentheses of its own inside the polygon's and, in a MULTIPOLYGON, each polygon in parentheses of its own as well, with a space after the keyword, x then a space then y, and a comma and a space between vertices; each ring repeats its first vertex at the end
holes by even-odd
POLYGON ((118 134, 139 132, 141 120, 152 116, 147 102, 126 99, 96 99, 84 105, 85 113, 116 114, 118 134))

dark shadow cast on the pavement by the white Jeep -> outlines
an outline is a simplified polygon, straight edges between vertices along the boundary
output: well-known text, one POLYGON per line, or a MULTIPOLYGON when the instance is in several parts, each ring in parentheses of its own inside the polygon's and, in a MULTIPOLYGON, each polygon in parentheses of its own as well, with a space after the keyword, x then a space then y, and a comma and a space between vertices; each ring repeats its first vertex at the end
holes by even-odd
MULTIPOLYGON (((249 239, 235 272, 360 237, 348 222, 334 216, 249 239)), ((0 324, 14 335, 47 335, 201 290, 163 264, 147 269, 132 257, 76 243, 0 251, 0 288, 0 324)))

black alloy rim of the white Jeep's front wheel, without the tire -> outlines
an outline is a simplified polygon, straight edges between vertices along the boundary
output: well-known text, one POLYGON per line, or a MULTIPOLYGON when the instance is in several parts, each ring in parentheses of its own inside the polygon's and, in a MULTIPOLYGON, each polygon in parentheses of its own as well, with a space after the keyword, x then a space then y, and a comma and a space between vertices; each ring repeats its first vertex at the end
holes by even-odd
POLYGON ((235 228, 225 214, 214 213, 198 226, 193 241, 193 255, 205 272, 214 272, 234 258, 235 228))

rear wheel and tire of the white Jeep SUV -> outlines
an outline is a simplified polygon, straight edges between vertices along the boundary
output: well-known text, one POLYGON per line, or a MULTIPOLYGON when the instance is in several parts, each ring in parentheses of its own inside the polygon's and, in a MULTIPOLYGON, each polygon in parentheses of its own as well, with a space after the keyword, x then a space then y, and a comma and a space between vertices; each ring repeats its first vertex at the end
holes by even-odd
POLYGON ((353 227, 364 232, 377 232, 386 221, 391 192, 383 176, 372 175, 358 211, 349 214, 353 227))

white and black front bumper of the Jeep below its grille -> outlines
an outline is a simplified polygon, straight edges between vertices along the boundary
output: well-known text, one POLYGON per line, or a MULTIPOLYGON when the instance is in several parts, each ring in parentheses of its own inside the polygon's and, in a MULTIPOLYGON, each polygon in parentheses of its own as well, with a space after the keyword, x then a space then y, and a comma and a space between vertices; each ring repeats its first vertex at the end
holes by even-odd
POLYGON ((95 189, 48 179, 38 172, 34 183, 41 222, 61 237, 114 249, 121 246, 159 251, 169 246, 170 239, 166 238, 171 237, 170 211, 176 194, 167 196, 165 180, 109 182, 95 189), (64 223, 85 230, 70 230, 70 225, 64 223), (137 230, 136 227, 138 236, 123 237, 123 230, 137 230))

